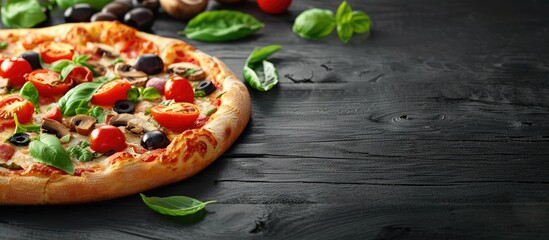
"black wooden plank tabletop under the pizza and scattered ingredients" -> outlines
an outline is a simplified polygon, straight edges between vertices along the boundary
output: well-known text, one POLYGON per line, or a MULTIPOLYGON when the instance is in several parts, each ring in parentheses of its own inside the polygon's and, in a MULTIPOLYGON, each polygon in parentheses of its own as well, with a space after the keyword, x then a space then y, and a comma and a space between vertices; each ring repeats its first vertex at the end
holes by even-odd
MULTIPOLYGON (((189 41, 238 75, 253 47, 284 46, 281 81, 250 89, 234 146, 146 192, 219 201, 206 213, 165 217, 138 195, 1 206, 1 238, 549 239, 549 2, 350 0, 373 19, 369 38, 292 33, 301 11, 339 3, 270 16, 250 1, 229 8, 266 23, 256 37, 189 41)), ((183 27, 162 17, 153 31, 183 27)))

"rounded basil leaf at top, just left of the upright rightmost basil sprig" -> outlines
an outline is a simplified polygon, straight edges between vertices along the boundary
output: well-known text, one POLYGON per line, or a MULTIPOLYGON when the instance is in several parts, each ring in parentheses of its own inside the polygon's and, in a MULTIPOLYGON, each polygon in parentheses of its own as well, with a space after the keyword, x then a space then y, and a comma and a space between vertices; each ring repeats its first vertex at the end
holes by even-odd
POLYGON ((302 38, 321 39, 334 31, 336 20, 330 10, 313 8, 297 16, 292 28, 302 38))

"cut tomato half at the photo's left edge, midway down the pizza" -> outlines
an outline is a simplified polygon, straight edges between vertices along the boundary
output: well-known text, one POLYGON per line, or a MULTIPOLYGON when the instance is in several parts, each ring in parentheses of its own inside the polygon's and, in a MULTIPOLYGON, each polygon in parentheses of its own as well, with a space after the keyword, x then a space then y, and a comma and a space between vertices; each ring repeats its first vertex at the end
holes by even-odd
POLYGON ((0 100, 0 126, 15 127, 14 114, 21 124, 32 121, 34 105, 18 95, 11 95, 0 100))

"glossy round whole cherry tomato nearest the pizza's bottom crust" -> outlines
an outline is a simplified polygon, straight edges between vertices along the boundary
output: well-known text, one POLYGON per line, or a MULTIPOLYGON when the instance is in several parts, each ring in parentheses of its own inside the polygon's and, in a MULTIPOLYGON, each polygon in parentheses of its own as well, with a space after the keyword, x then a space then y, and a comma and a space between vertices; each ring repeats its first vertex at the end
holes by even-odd
POLYGON ((94 129, 90 133, 90 148, 98 153, 109 151, 120 152, 128 146, 126 136, 112 125, 105 125, 94 129))

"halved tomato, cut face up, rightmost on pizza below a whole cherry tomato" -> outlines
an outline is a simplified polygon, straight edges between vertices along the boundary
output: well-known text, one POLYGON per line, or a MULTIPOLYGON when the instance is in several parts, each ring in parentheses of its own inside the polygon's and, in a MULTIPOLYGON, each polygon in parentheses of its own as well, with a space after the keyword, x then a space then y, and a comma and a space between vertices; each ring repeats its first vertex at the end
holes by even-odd
POLYGON ((151 108, 153 119, 174 132, 183 132, 191 128, 199 115, 200 109, 186 102, 176 102, 169 106, 157 105, 151 108))

